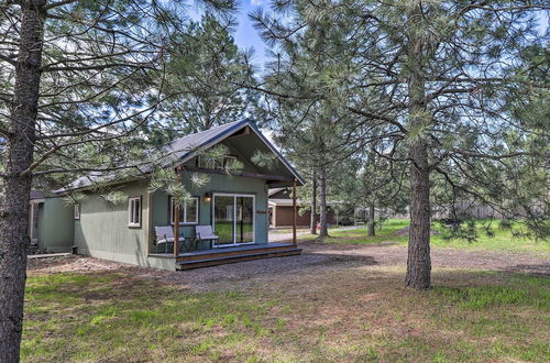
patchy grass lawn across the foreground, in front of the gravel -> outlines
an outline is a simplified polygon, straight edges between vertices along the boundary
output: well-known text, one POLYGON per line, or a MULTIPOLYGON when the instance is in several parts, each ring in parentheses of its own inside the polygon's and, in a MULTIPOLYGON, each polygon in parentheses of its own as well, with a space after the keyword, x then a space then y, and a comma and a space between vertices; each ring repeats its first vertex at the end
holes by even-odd
POLYGON ((403 266, 282 274, 191 292, 122 273, 31 273, 22 360, 550 360, 550 279, 436 268, 403 287, 403 266))

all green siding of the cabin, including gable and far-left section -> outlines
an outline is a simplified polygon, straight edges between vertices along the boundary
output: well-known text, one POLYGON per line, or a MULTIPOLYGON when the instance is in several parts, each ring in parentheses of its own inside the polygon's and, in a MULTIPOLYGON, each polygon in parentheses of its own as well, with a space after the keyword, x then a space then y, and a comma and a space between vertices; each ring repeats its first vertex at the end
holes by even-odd
MULTIPOLYGON (((250 155, 257 150, 268 152, 270 150, 255 134, 228 139, 222 142, 230 153, 243 163, 243 170, 260 174, 272 174, 290 176, 286 167, 278 163, 274 169, 266 169, 254 165, 250 155)), ((187 166, 196 166, 196 160, 185 163, 187 166)), ((201 187, 190 185, 189 172, 184 172, 185 185, 193 196, 199 197, 199 224, 212 224, 212 201, 205 200, 205 194, 226 193, 244 194, 255 196, 255 243, 267 243, 268 213, 267 213, 267 185, 264 179, 242 176, 229 176, 221 174, 207 174, 210 182, 201 187)), ((99 258, 112 260, 123 263, 132 263, 141 266, 153 266, 158 268, 174 270, 174 257, 147 256, 147 245, 154 240, 155 226, 169 226, 168 196, 163 191, 152 194, 151 226, 148 224, 147 206, 148 180, 142 179, 112 187, 112 190, 124 193, 128 197, 142 197, 141 227, 131 228, 129 221, 128 201, 111 205, 101 196, 91 191, 87 193, 87 199, 80 205, 80 220, 74 220, 73 208, 62 208, 58 201, 51 204, 48 198, 44 210, 40 211, 42 226, 38 226, 38 235, 44 241, 63 241, 61 245, 69 248, 77 245, 80 254, 91 255, 99 258), (58 212, 51 212, 54 208, 58 212), (148 231, 148 235, 145 235, 148 231), (48 234, 51 233, 51 234, 48 234)), ((107 191, 106 191, 107 193, 107 191)), ((187 238, 195 237, 195 226, 183 226, 180 233, 187 238)), ((200 249, 209 246, 205 242, 200 249)))

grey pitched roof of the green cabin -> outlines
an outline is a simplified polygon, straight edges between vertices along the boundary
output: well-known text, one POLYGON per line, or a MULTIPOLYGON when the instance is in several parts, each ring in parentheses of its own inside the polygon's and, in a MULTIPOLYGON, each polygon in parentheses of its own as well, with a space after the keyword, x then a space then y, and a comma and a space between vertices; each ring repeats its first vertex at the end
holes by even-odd
MULTIPOLYGON (((162 148, 162 155, 158 157, 158 162, 155 164, 160 164, 162 167, 168 167, 174 164, 180 164, 189 161, 190 158, 197 156, 197 153, 223 141, 226 138, 239 132, 240 130, 250 127, 262 142, 267 146, 280 161, 280 163, 286 167, 288 172, 290 172, 296 179, 298 179, 300 185, 304 185, 306 182, 304 178, 296 172, 296 169, 290 165, 290 163, 277 151, 277 148, 262 134, 260 129, 249 119, 244 119, 242 121, 235 121, 231 123, 223 124, 218 128, 213 128, 207 131, 198 132, 195 134, 186 135, 184 138, 177 139, 172 142, 169 145, 166 145, 162 148)), ((154 154, 155 152, 151 152, 154 154)), ((132 168, 129 165, 129 168, 132 168)), ((134 166, 138 168, 141 174, 151 173, 154 168, 153 164, 142 164, 139 166, 134 166)), ((82 176, 73 183, 70 183, 67 187, 55 190, 55 193, 65 193, 74 189, 81 189, 92 186, 97 183, 108 183, 110 180, 114 180, 117 177, 113 174, 105 174, 105 173, 90 173, 86 176, 82 176)), ((134 177, 135 178, 135 177, 134 177)), ((134 179, 132 178, 132 179, 134 179)))

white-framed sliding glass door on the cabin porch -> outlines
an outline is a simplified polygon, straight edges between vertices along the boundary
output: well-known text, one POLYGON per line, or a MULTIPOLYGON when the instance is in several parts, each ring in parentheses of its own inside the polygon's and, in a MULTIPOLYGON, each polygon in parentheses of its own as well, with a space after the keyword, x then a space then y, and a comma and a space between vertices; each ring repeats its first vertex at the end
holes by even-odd
POLYGON ((218 246, 254 243, 254 196, 215 194, 213 228, 218 246))

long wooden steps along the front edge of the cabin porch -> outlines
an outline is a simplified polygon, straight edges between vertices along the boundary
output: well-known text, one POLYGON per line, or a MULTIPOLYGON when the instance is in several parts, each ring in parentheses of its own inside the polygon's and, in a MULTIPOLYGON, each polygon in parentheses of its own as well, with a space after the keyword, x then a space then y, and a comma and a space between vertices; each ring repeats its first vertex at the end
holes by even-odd
POLYGON ((301 249, 295 245, 278 245, 255 249, 243 249, 237 251, 222 251, 216 253, 202 253, 199 255, 178 256, 176 260, 177 270, 191 270, 223 265, 237 262, 283 257, 298 255, 301 249))

